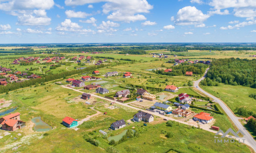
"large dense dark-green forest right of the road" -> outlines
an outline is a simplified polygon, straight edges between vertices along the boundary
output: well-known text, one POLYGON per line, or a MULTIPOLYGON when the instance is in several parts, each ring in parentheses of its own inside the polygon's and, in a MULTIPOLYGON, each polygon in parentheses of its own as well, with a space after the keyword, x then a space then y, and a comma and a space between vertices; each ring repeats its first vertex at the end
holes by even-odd
POLYGON ((256 88, 256 60, 218 59, 211 62, 207 78, 228 85, 256 88))

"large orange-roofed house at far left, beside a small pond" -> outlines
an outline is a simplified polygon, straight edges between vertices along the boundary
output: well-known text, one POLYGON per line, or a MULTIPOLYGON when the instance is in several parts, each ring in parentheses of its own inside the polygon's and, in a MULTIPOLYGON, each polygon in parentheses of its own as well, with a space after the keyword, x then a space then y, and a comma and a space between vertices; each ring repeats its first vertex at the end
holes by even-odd
POLYGON ((0 118, 0 123, 2 124, 2 129, 7 131, 15 131, 26 126, 26 122, 21 121, 19 117, 20 113, 9 114, 0 118))

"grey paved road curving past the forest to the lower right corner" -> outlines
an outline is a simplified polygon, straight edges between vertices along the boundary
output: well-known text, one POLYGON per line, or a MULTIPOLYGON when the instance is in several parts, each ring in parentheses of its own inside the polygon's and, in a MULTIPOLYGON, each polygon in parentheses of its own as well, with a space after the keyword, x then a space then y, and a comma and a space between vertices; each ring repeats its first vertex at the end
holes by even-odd
MULTIPOLYGON (((208 68, 209 69, 209 68, 208 68)), ((198 90, 201 91, 202 93, 206 94, 207 96, 211 97, 212 99, 214 99, 215 102, 217 102, 222 109, 225 111, 225 113, 228 115, 228 117, 232 120, 232 122, 238 127, 238 129, 240 129, 245 135, 244 137, 246 138, 245 140, 245 144, 249 145, 250 147, 253 148, 254 152, 256 152, 256 141, 253 139, 253 137, 247 132, 247 130, 245 130, 245 127, 240 123, 240 121, 238 119, 240 119, 239 117, 237 117, 236 115, 233 114, 233 112, 227 107, 227 105, 220 100, 219 98, 217 98, 214 95, 211 95, 210 93, 204 91, 202 88, 200 88, 199 83, 205 79, 206 77, 206 73, 208 71, 208 69, 205 71, 204 73, 204 77, 202 77, 201 79, 199 79, 198 81, 195 81, 195 86, 198 86, 198 90)), ((224 131, 225 132, 225 131, 224 131)))

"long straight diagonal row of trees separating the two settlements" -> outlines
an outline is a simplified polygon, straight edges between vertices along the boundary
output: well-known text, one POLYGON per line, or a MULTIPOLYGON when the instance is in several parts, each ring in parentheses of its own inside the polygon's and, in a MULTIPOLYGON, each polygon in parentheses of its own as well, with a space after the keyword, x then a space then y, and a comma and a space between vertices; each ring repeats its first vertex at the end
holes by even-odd
POLYGON ((57 74, 49 74, 49 75, 45 75, 42 78, 38 78, 38 79, 31 79, 31 80, 27 80, 21 83, 12 83, 12 84, 8 84, 7 86, 0 86, 0 93, 5 93, 5 92, 9 92, 12 90, 16 90, 19 88, 25 88, 25 87, 29 87, 35 84, 42 84, 45 82, 49 82, 49 81, 53 81, 53 80, 57 80, 57 79, 61 79, 61 78, 66 78, 69 77, 71 75, 74 74, 78 74, 78 73, 84 73, 84 72, 88 72, 88 71, 92 71, 98 68, 102 68, 102 67, 108 67, 108 66, 117 66, 117 65, 123 65, 123 64, 128 64, 127 62, 120 62, 120 63, 114 63, 114 64, 101 64, 101 65, 93 65, 84 69, 76 69, 76 70, 72 70, 72 71, 65 71, 65 72, 61 72, 61 73, 57 73, 57 74))

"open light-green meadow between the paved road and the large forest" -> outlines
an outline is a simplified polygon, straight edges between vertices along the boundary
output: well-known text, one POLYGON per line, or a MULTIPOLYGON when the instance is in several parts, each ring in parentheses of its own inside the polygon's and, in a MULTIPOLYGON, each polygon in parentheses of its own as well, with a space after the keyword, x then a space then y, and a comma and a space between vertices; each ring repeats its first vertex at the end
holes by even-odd
POLYGON ((248 111, 255 112, 256 110, 256 100, 249 97, 250 94, 256 93, 256 89, 224 84, 220 84, 220 86, 201 87, 212 95, 221 98, 233 112, 236 112, 234 110, 240 107, 245 107, 248 111))

